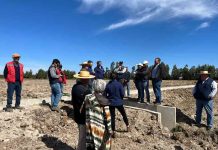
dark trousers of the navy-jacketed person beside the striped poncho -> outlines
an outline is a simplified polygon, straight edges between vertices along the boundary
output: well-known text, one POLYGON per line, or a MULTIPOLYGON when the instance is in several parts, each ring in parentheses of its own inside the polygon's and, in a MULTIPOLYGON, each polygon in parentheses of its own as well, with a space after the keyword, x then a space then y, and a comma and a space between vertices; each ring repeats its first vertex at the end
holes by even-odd
POLYGON ((123 105, 121 105, 121 106, 110 106, 112 131, 115 131, 115 117, 116 117, 115 108, 117 108, 118 111, 123 116, 123 121, 125 122, 126 126, 129 125, 129 121, 128 121, 128 118, 126 116, 126 111, 125 111, 123 105))

